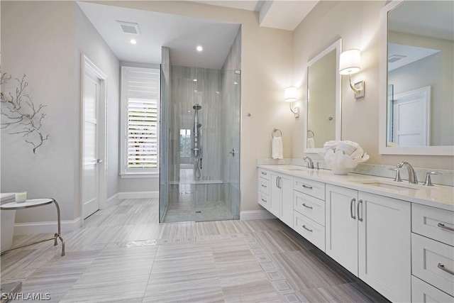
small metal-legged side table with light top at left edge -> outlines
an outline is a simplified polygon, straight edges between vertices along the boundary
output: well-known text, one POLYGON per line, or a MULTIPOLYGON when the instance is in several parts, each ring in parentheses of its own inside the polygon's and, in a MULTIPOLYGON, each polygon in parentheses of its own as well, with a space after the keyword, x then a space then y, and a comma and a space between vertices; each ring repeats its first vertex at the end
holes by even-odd
POLYGON ((63 241, 63 238, 60 235, 60 232, 61 232, 60 231, 60 207, 58 206, 58 203, 57 203, 57 201, 55 201, 55 199, 43 198, 43 199, 28 199, 28 200, 26 200, 26 202, 20 202, 20 203, 18 203, 18 202, 10 202, 10 203, 6 203, 6 204, 2 204, 0 206, 0 209, 4 210, 4 211, 17 210, 17 209, 30 209, 32 207, 44 206, 44 205, 48 205, 48 204, 51 204, 51 203, 54 203, 55 206, 57 207, 58 232, 55 233, 54 237, 50 238, 50 239, 36 241, 36 242, 30 243, 30 244, 26 244, 26 245, 23 245, 23 246, 17 246, 17 247, 13 247, 13 248, 8 248, 8 249, 5 249, 5 250, 2 250, 1 251, 2 255, 3 255, 3 253, 6 253, 9 250, 13 250, 13 249, 17 249, 17 248, 23 248, 23 247, 26 247, 26 246, 31 246, 33 244, 38 244, 38 243, 45 242, 45 241, 50 241, 50 240, 54 240, 55 241, 54 245, 56 246, 57 245, 57 238, 59 238, 60 241, 62 241, 62 256, 65 255, 65 241, 63 241))

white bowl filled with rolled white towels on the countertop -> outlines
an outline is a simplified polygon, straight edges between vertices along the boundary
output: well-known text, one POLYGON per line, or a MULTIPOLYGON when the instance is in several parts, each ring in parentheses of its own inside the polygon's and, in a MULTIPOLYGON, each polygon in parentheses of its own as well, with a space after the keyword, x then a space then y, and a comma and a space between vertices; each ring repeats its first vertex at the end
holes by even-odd
POLYGON ((328 141, 320 154, 335 175, 347 175, 358 163, 369 160, 369 155, 353 141, 328 141))

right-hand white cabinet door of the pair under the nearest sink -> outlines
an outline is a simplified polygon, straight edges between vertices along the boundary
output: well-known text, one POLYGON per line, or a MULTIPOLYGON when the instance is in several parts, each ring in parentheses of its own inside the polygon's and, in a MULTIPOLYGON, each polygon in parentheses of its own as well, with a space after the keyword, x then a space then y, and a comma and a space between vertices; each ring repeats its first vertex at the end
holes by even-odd
POLYGON ((392 302, 410 302, 410 203, 365 192, 358 197, 358 277, 392 302))

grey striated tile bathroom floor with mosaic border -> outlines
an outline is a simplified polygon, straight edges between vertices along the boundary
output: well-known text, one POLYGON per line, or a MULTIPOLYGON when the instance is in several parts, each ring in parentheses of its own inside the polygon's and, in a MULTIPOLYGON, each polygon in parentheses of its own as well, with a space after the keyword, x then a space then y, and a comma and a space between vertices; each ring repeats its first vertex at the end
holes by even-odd
POLYGON ((1 255, 1 282, 48 302, 387 302, 279 220, 156 222, 157 199, 118 200, 62 235, 64 257, 1 255))

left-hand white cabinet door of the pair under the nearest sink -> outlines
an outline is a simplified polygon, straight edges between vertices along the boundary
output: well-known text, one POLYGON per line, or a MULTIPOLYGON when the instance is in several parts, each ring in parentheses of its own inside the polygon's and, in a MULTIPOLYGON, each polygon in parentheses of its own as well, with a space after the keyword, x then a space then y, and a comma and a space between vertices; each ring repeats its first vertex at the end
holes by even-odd
POLYGON ((326 254, 358 275, 358 192, 326 184, 326 254))

